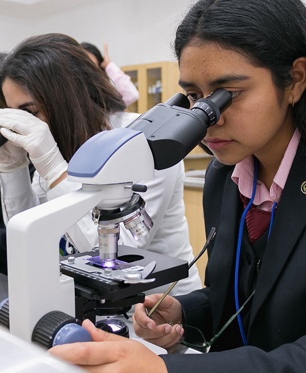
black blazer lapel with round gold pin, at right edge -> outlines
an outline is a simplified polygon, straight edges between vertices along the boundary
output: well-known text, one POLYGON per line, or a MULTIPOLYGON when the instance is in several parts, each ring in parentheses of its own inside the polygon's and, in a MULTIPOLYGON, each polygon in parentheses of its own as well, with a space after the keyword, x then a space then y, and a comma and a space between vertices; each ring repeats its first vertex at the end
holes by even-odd
POLYGON ((304 151, 298 149, 267 242, 254 294, 249 331, 306 226, 306 219, 301 219, 306 211, 306 189, 302 192, 301 188, 305 181, 306 158, 304 151))

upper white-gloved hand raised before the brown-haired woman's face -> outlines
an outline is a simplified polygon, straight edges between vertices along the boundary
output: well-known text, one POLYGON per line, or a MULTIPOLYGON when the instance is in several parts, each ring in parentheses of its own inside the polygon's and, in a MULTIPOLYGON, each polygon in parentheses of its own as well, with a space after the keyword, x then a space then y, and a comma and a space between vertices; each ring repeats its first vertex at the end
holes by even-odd
POLYGON ((67 171, 63 158, 49 126, 24 110, 0 109, 1 133, 12 143, 21 146, 41 177, 46 180, 47 188, 67 171))

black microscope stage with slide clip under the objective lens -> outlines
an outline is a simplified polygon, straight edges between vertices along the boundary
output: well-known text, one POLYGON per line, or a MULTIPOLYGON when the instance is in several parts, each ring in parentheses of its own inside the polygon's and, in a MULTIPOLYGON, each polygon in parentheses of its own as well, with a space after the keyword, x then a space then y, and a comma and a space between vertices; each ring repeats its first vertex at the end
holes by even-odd
POLYGON ((73 277, 75 284, 95 289, 100 298, 112 301, 188 277, 187 261, 130 246, 118 246, 118 258, 111 274, 106 274, 106 268, 101 267, 98 256, 99 250, 93 249, 74 254, 74 263, 68 262, 71 255, 63 257, 61 258, 61 272, 73 277), (156 261, 154 270, 145 277, 143 282, 125 283, 124 273, 142 272, 144 267, 154 261, 156 261), (149 278, 155 278, 155 281, 147 283, 145 280, 149 278))

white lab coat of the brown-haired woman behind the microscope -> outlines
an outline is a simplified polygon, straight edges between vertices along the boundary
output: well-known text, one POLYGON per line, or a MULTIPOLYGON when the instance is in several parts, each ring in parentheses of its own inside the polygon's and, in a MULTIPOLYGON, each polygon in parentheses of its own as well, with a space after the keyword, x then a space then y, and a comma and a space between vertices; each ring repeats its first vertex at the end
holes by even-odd
MULTIPOLYGON (((113 114, 110 124, 113 128, 125 127, 138 115, 125 112, 113 114)), ((122 225, 119 243, 191 262, 193 253, 189 243, 187 219, 184 215, 183 180, 184 164, 181 161, 169 169, 155 171, 155 176, 151 180, 137 181, 137 183, 147 185, 147 191, 141 193, 141 197, 146 202, 145 209, 154 222, 154 226, 147 236, 135 241, 131 232, 122 225)), ((0 183, 5 223, 10 217, 24 209, 65 195, 82 186, 80 183, 64 179, 53 189, 46 191, 45 180, 37 172, 31 184, 28 168, 0 174, 0 183)), ((97 226, 92 221, 91 212, 70 228, 66 236, 80 252, 97 247, 97 226)), ((189 271, 189 277, 182 279, 170 294, 185 294, 201 287, 198 271, 194 265, 189 271)), ((163 292, 166 289, 167 286, 163 286, 150 293, 163 292)))

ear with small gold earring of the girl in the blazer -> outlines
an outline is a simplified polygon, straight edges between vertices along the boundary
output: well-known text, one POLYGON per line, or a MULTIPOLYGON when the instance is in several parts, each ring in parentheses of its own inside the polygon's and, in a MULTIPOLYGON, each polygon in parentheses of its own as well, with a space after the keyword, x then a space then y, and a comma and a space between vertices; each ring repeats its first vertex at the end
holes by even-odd
POLYGON ((291 75, 293 84, 290 90, 289 104, 298 102, 306 89, 306 57, 299 57, 293 62, 291 75))

